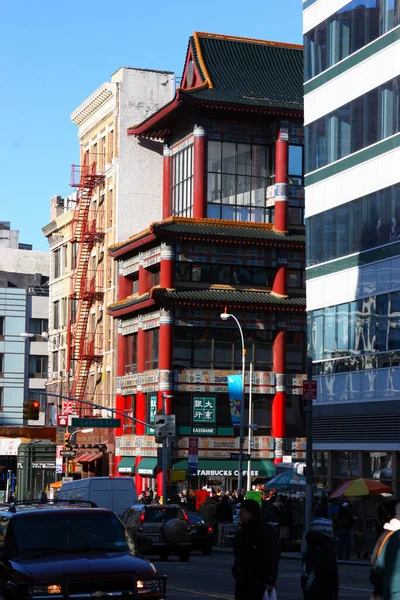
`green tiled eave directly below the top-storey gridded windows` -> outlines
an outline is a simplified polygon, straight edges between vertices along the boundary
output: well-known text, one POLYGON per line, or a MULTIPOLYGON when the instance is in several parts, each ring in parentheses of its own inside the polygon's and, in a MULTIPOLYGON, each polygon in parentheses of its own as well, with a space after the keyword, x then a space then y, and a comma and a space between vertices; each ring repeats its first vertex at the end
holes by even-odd
POLYGON ((282 242, 286 244, 304 245, 305 235, 300 233, 280 233, 264 227, 246 227, 222 223, 164 221, 153 225, 156 235, 171 234, 173 236, 189 235, 194 237, 218 237, 226 239, 241 239, 257 242, 282 242))

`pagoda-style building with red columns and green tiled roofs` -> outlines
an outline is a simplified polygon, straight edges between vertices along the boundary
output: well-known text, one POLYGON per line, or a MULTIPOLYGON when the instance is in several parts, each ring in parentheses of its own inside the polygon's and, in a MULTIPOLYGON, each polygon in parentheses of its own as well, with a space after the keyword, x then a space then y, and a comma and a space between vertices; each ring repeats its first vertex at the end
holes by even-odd
MULTIPOLYGON (((302 456, 292 443, 304 435, 302 123, 301 46, 195 33, 174 99, 127 132, 163 144, 162 220, 109 249, 120 273, 108 307, 119 320, 117 408, 152 423, 167 393, 172 470, 187 471, 188 438, 199 437, 195 487, 237 486, 227 376, 241 371, 242 345, 225 309, 245 338, 246 424, 253 370, 253 481, 302 456)), ((117 448, 116 474, 135 473, 139 492, 157 478, 160 490, 149 427, 127 420, 117 448)))

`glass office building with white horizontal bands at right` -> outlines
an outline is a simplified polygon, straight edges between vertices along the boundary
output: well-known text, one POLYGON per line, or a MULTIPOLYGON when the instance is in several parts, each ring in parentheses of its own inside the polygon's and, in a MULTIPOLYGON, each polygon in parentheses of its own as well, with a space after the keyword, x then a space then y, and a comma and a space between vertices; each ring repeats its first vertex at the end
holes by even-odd
POLYGON ((400 0, 303 0, 308 354, 328 489, 400 480, 400 0))

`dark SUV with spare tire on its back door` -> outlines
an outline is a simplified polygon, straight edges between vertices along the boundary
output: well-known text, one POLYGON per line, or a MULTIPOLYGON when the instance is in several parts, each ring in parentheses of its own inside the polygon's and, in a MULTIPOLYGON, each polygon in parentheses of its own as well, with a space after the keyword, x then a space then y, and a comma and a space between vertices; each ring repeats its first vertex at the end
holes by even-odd
POLYGON ((135 504, 121 517, 123 524, 143 554, 167 560, 177 554, 182 562, 190 558, 192 529, 179 504, 135 504))

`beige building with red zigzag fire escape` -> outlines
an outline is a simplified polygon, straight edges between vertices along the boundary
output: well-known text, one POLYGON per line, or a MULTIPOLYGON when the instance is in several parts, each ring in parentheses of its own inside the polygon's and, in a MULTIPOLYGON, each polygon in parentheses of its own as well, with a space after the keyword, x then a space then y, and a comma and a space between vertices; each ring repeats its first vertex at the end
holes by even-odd
MULTIPOLYGON (((129 224, 138 230, 143 227, 146 210, 155 204, 162 185, 160 174, 149 183, 146 201, 139 205, 139 182, 146 169, 161 164, 162 156, 128 138, 126 130, 132 120, 140 121, 168 102, 173 90, 172 73, 121 68, 71 115, 81 154, 81 164, 72 168, 76 193, 65 201, 52 200, 51 222, 43 228, 51 248, 48 387, 95 402, 104 410, 73 401, 54 402, 53 418, 56 412, 108 416, 104 411, 114 406, 116 326, 105 307, 116 300, 117 288, 107 249, 127 235, 129 224)), ((77 473, 113 471, 112 430, 96 430, 82 442, 73 466, 77 473), (96 459, 88 457, 88 445, 95 450, 101 446, 102 456, 95 452, 96 459)))

